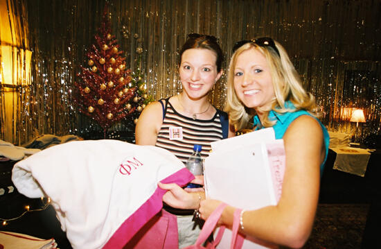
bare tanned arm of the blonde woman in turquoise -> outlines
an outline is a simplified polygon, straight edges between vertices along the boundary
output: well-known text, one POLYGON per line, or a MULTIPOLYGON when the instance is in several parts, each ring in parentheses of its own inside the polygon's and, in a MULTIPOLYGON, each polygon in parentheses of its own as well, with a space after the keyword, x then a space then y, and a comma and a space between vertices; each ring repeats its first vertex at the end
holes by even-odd
MULTIPOLYGON (((276 206, 243 214, 245 234, 271 243, 300 248, 307 241, 319 198, 320 164, 324 160, 324 138, 319 123, 303 115, 291 123, 283 137, 286 167, 282 196, 276 206)), ((248 193, 249 194, 249 193, 248 193)), ((202 200, 206 219, 218 200, 202 200)), ((220 223, 231 226, 234 207, 226 207, 220 223)))

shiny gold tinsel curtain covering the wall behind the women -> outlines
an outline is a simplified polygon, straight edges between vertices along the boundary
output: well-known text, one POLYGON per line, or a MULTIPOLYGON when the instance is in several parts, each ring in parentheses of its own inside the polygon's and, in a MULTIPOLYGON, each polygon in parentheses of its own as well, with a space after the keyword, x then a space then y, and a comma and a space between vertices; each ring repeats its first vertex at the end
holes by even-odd
MULTIPOLYGON (((5 1, 5 0, 1 0, 5 1)), ((85 52, 94 42, 105 3, 121 49, 132 70, 141 69, 148 93, 155 99, 181 91, 178 52, 188 33, 220 38, 227 69, 234 42, 271 36, 285 46, 308 91, 317 98, 329 130, 353 135, 345 108, 362 108, 360 140, 380 135, 381 1, 376 0, 8 0, 15 18, 28 26, 33 51, 30 91, 17 90, 12 132, 1 118, 1 139, 22 144, 39 134, 80 134, 96 129, 76 111, 73 82, 85 52), (137 48, 141 60, 136 60, 137 48), (137 61, 140 61, 137 65, 137 61)), ((10 15, 10 14, 9 14, 10 15)), ((226 75, 211 92, 222 108, 226 75)), ((1 110, 6 103, 1 96, 1 110)), ((126 121, 127 122, 127 121, 126 121)), ((123 124, 113 128, 125 129, 123 124)))

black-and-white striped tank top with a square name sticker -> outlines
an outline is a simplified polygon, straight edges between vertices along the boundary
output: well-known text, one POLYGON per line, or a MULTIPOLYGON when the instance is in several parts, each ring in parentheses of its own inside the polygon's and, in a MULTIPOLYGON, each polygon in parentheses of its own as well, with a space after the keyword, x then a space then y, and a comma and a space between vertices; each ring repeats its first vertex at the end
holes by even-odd
POLYGON ((207 157, 211 151, 211 141, 222 139, 220 113, 215 112, 209 120, 193 120, 179 114, 168 99, 160 100, 164 102, 164 119, 155 145, 170 151, 184 164, 193 153, 194 144, 200 144, 201 156, 207 157))

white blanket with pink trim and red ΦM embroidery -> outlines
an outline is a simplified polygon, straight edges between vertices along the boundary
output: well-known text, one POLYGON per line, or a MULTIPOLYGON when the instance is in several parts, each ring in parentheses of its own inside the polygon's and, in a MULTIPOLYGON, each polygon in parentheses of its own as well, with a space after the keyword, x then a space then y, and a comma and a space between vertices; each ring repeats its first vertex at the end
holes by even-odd
POLYGON ((157 182, 193 179, 172 153, 116 140, 71 141, 15 164, 29 198, 48 196, 73 248, 123 248, 162 207, 157 182))

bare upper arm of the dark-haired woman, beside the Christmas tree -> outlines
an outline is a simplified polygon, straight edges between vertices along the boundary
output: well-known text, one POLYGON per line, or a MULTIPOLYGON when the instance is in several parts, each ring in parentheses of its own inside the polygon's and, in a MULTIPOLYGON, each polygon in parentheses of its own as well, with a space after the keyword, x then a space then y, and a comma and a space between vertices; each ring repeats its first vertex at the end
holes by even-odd
POLYGON ((155 101, 147 105, 141 112, 135 128, 135 144, 155 145, 157 134, 163 123, 161 103, 155 101))

